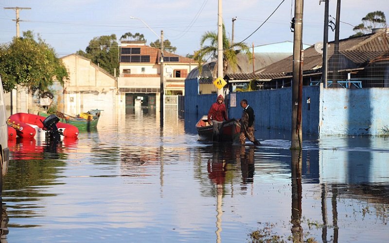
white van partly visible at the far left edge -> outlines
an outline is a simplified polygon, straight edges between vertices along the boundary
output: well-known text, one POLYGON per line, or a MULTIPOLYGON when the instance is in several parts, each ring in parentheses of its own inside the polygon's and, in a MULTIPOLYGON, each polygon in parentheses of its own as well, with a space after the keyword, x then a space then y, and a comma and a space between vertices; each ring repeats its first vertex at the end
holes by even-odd
POLYGON ((7 173, 9 162, 8 125, 5 113, 3 83, 0 77, 0 197, 3 186, 3 176, 7 173))

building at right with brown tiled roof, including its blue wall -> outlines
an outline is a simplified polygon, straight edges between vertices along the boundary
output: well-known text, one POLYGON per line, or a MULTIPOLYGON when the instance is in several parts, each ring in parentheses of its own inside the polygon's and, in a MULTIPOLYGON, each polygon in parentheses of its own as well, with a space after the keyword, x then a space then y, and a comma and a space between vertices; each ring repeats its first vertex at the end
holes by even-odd
MULTIPOLYGON (((329 42, 328 82, 323 87, 322 54, 315 46, 304 51, 302 131, 323 136, 388 136, 389 35, 377 31, 339 41, 338 50, 329 42), (334 88, 333 88, 334 87, 334 88)), ((264 89, 230 92, 229 118, 242 113, 239 101, 247 99, 255 110, 255 126, 291 130, 293 56, 260 69, 255 75, 230 75, 239 82, 255 79, 264 89)), ((191 77, 191 79, 190 79, 191 77)), ((185 117, 207 114, 216 94, 200 94, 201 78, 185 81, 185 117), (195 105, 194 105, 195 104, 195 105)), ((293 104, 296 105, 296 104, 293 104)))

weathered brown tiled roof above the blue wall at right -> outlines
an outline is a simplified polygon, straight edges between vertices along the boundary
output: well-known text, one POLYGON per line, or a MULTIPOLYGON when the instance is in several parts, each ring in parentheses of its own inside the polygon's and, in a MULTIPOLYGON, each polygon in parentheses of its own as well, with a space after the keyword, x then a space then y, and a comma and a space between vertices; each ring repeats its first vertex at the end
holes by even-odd
MULTIPOLYGON (((329 66, 330 62, 334 62, 334 41, 329 42, 328 58, 329 66)), ((375 34, 362 35, 358 37, 347 38, 339 40, 339 52, 346 58, 347 64, 342 69, 357 70, 364 67, 369 61, 383 55, 385 52, 389 52, 389 36, 385 31, 380 31, 375 34)), ((322 67, 322 54, 316 52, 315 47, 304 51, 304 74, 307 71, 321 72, 322 67)), ((274 76, 285 77, 293 72, 293 55, 273 63, 264 69, 259 70, 261 77, 274 76)))

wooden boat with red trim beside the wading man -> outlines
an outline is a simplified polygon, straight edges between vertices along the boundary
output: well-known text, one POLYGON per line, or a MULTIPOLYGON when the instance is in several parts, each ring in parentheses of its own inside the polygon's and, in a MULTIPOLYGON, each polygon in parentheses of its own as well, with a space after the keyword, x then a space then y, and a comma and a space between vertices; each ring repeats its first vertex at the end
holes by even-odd
POLYGON ((196 123, 196 129, 200 140, 239 143, 241 126, 236 119, 224 121, 219 135, 213 134, 213 126, 208 123, 207 116, 196 123))

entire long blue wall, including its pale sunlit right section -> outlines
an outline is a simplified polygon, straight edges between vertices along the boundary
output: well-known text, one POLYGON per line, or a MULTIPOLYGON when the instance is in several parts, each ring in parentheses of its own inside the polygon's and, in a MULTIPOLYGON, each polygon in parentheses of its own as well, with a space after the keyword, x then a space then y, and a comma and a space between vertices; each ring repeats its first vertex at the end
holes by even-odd
MULTIPOLYGON (((208 113, 216 94, 198 95, 198 81, 185 81, 185 116, 208 113)), ((304 86, 302 131, 323 136, 389 135, 388 88, 328 88, 304 86), (307 100, 310 103, 307 103, 307 100)), ((255 112, 256 128, 291 130, 291 88, 237 92, 229 95, 229 118, 240 118, 240 101, 248 100, 255 112), (231 98, 236 96, 236 106, 231 98)), ((188 116, 194 119, 194 116, 188 116)))

